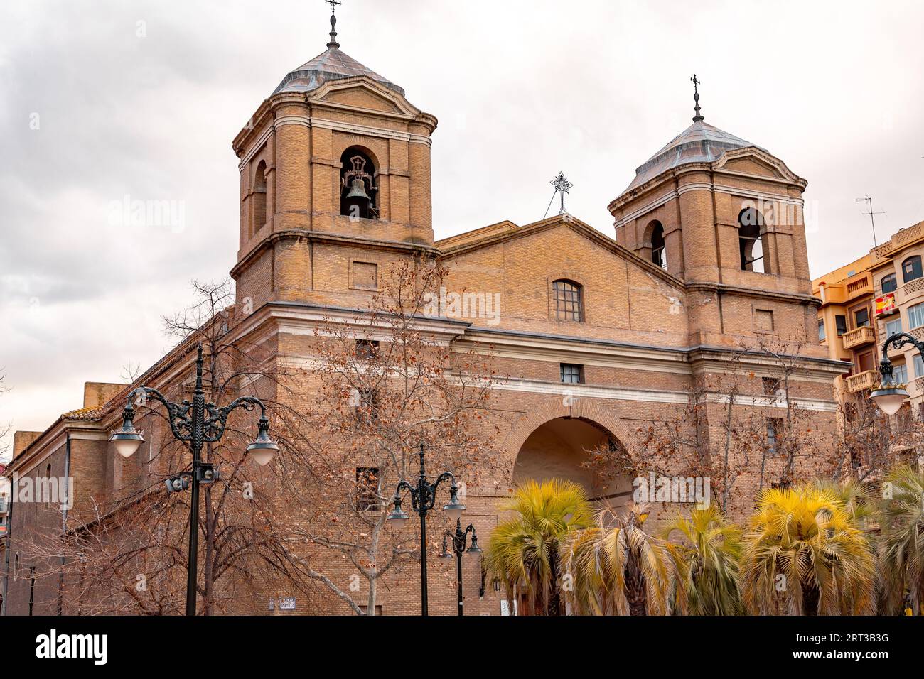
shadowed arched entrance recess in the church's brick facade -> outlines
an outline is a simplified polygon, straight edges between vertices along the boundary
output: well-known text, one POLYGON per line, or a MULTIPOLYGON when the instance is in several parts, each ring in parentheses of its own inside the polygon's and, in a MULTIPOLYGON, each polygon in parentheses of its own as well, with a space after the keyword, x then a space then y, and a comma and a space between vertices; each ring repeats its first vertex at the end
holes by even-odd
POLYGON ((581 484, 598 507, 621 507, 632 499, 632 479, 615 478, 589 465, 593 451, 620 445, 610 430, 590 419, 550 419, 520 447, 513 482, 569 479, 581 484))

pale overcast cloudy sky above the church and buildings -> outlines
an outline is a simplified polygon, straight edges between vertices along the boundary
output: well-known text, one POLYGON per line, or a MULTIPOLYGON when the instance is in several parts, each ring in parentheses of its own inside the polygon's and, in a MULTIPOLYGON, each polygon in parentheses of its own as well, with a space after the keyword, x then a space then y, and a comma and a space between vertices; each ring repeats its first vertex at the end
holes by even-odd
MULTIPOLYGON (((924 219, 919 2, 344 0, 343 50, 436 115, 433 218, 449 236, 606 204, 689 124, 808 179, 813 275, 924 219)), ((237 251, 231 139, 324 50, 322 0, 30 0, 0 6, 0 423, 42 430, 85 381, 159 358, 188 281, 237 251), (125 200, 167 200, 137 226, 125 200), (129 217, 128 219, 126 217, 129 217)))

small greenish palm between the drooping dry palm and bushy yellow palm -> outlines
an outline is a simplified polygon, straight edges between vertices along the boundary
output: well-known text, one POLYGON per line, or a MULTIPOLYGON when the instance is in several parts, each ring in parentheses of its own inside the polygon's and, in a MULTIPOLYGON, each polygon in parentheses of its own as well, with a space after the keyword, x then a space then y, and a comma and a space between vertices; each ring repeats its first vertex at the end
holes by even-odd
POLYGON ((743 615, 738 591, 738 561, 741 558, 741 529, 727 521, 715 506, 694 509, 689 518, 677 515, 664 528, 669 540, 679 533, 681 541, 668 542, 678 574, 677 606, 694 615, 743 615))

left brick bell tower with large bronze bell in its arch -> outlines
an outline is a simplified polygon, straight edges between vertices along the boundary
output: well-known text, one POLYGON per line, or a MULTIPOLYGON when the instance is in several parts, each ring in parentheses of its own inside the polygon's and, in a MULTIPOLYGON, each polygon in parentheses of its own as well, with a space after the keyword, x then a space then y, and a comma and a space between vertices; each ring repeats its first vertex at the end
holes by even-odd
MULTIPOLYGON (((338 3, 332 3, 336 7, 338 3)), ((347 303, 388 260, 432 249, 436 118, 340 49, 282 79, 233 147, 240 159, 238 299, 347 303)))

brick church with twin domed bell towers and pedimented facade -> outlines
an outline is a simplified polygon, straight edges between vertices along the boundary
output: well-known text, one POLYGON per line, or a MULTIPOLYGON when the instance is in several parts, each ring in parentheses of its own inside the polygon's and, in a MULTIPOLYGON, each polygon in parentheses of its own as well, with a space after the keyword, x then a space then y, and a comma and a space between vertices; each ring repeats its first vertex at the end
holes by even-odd
MULTIPOLYGON (((789 396, 833 436, 832 382, 844 367, 815 342, 807 182, 760 146, 707 123, 699 94, 694 114, 687 129, 638 165, 628 187, 614 187, 608 234, 562 212, 434 240, 437 119, 346 55, 332 30, 326 50, 288 73, 233 140, 240 224, 231 275, 237 305, 249 310, 234 332, 271 347, 271 358, 308 360, 298 356, 298 338, 323 314, 363 309, 395 261, 430 258, 448 268, 448 288, 499 293, 499 313, 447 319, 443 335, 454 346, 492 346, 498 369, 510 376, 496 386, 496 405, 508 416, 496 445, 511 486, 555 476, 598 493, 581 464, 588 449, 609 439, 644 455, 639 430, 675 417, 695 384, 710 383, 733 363, 746 377, 732 406, 779 417, 778 399, 760 379, 776 374, 772 360, 741 350, 779 337, 806 340, 804 370, 789 396)), ((181 345, 140 380, 161 387, 186 379, 194 359, 181 345)), ((75 479, 74 513, 118 495, 128 466, 141 464, 115 455, 107 441, 126 391, 88 382, 79 409, 43 432, 17 433, 6 475, 75 479)), ((706 391, 698 432, 704 444, 720 435, 711 418, 728 408, 727 396, 706 391)), ((626 479, 613 496, 625 501, 629 491, 626 479)), ((469 491, 467 520, 482 542, 504 497, 469 491)), ((2 566, 5 613, 54 613, 53 590, 30 590, 30 564, 18 553, 30 512, 18 509, 2 566)), ((406 579, 413 580, 407 596, 380 593, 381 612, 417 612, 417 576, 406 579)), ((479 579, 477 565, 467 564, 466 612, 497 614, 499 595, 489 587, 477 597, 479 579)), ((432 613, 455 611, 454 589, 431 599, 432 613)), ((337 606, 330 610, 347 612, 337 606)), ((244 610, 267 609, 257 601, 244 610)))

